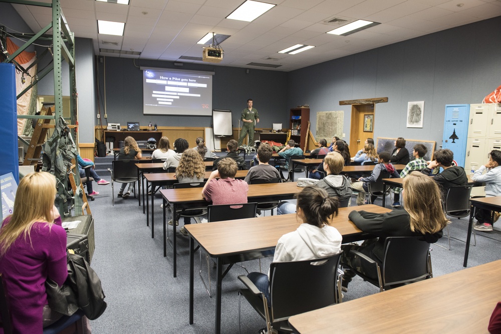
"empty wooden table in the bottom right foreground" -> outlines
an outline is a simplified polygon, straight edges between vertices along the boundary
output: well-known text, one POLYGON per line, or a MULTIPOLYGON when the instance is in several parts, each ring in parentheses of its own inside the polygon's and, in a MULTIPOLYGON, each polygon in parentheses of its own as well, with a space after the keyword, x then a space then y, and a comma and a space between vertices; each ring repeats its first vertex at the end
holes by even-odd
POLYGON ((296 333, 486 333, 501 260, 293 315, 296 333), (481 284, 479 284, 481 282, 481 284))

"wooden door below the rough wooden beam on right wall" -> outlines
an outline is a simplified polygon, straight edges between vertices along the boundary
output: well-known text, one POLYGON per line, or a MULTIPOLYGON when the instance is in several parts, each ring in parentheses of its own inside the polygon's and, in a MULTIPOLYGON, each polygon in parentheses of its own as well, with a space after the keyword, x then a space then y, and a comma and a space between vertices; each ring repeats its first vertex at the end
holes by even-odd
POLYGON ((374 138, 374 111, 372 103, 351 106, 350 153, 352 156, 364 148, 367 138, 374 138))

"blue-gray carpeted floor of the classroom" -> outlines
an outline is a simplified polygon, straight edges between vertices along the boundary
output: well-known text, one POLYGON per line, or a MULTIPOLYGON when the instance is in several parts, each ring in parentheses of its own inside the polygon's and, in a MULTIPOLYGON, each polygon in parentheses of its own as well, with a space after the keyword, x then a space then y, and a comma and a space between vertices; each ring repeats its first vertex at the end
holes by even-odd
MULTIPOLYGON (((99 168, 99 167, 97 167, 99 168)), ((105 170, 101 177, 111 181, 105 170)), ((296 178, 302 175, 296 175, 296 178)), ((115 185, 115 196, 118 184, 115 185)), ((111 183, 95 185, 100 194, 90 202, 95 219, 96 250, 92 267, 102 280, 108 308, 98 319, 91 321, 94 334, 127 333, 212 333, 214 332, 215 300, 209 298, 198 275, 195 277, 194 324, 188 324, 188 280, 189 251, 188 237, 177 234, 177 277, 172 277, 172 248, 168 246, 167 257, 163 257, 161 197, 155 198, 155 238, 146 226, 146 215, 134 197, 127 200, 115 198, 111 201, 111 183)), ((354 203, 354 199, 352 203, 354 203)), ((386 203, 391 202, 389 200, 386 203)), ((376 204, 380 205, 378 201, 376 204)), ((389 205, 389 204, 387 204, 389 205)), ((267 213, 269 214, 269 212, 267 213)), ((182 221, 182 220, 181 220, 182 221)), ((181 223, 182 225, 182 223, 181 223)), ((449 226, 452 236, 465 239, 466 219, 454 219, 449 226)), ((495 226, 494 226, 495 228, 495 226)), ((179 230, 179 228, 178 228, 179 230)), ((477 245, 470 247, 468 266, 490 262, 501 258, 501 235, 497 232, 477 234, 477 245), (493 237, 496 240, 487 238, 493 237)), ((445 245, 446 238, 439 243, 445 245)), ((432 264, 435 276, 461 270, 464 243, 451 240, 450 251, 433 245, 432 264)), ((262 260, 263 271, 268 270, 272 258, 262 260)), ((249 271, 259 271, 259 261, 245 263, 249 271)), ((195 266, 197 270, 197 266, 195 266)), ((207 272, 205 265, 202 272, 207 272)), ((221 332, 238 332, 238 295, 241 287, 237 276, 244 269, 233 266, 223 280, 221 332)), ((215 269, 210 268, 215 280, 215 269)), ((476 282, 471 282, 475 284, 476 282)), ((298 288, 300 288, 298 286, 298 288)), ((212 286, 213 292, 215 287, 212 286)), ((344 294, 344 301, 377 293, 378 288, 358 277, 344 294)), ((492 305, 492 308, 494 305, 492 305)), ((257 333, 265 321, 241 300, 241 333, 257 333)))

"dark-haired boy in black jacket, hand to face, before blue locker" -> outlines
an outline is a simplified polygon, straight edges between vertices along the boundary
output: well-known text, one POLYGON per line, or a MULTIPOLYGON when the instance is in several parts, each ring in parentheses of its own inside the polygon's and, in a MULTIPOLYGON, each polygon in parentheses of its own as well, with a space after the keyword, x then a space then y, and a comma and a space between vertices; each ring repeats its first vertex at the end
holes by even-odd
POLYGON ((452 166, 454 153, 449 149, 436 150, 433 153, 435 160, 430 161, 428 166, 421 171, 425 175, 430 175, 431 170, 436 167, 442 167, 443 171, 433 176, 435 182, 440 186, 442 192, 442 199, 445 199, 447 189, 450 186, 464 186, 468 183, 468 178, 464 172, 464 168, 459 166, 452 166))

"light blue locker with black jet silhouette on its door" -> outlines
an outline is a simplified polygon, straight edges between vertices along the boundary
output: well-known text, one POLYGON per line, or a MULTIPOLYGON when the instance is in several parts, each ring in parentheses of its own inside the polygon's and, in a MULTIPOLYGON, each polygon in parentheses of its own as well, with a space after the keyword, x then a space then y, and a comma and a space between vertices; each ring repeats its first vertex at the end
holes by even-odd
POLYGON ((454 153, 454 160, 464 167, 468 137, 469 104, 445 105, 442 148, 454 153))

